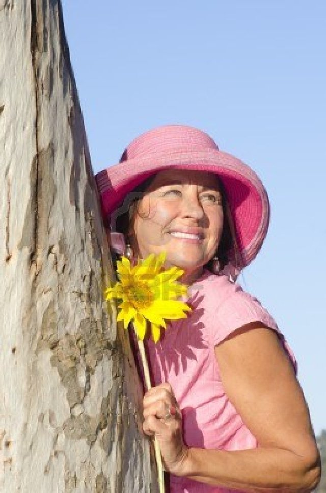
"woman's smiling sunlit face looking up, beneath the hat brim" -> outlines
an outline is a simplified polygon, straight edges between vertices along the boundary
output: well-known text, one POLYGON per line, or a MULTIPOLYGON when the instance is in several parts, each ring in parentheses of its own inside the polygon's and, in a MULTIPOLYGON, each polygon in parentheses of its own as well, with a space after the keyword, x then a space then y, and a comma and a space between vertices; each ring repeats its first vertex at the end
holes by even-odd
POLYGON ((136 209, 129 231, 135 256, 145 258, 164 251, 166 267, 184 269, 187 282, 199 277, 222 233, 217 177, 193 170, 160 171, 136 209))

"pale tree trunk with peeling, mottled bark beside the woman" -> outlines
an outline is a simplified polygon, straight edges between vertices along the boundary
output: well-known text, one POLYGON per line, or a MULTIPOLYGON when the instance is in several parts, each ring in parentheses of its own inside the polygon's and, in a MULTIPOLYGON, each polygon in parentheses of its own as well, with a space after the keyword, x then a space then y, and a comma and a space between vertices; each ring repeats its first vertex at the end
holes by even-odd
POLYGON ((156 491, 59 0, 0 0, 0 77, 0 491, 156 491))

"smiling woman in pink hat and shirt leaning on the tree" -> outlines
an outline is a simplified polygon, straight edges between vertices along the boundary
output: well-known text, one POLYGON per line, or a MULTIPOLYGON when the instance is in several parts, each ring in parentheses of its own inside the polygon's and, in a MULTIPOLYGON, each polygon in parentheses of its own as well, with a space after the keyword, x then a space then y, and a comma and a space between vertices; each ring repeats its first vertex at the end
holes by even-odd
POLYGON ((164 251, 189 285, 193 311, 147 341, 155 386, 143 429, 158 440, 170 491, 314 489, 319 455, 294 357, 234 282, 268 228, 257 175, 205 133, 171 125, 135 139, 96 179, 127 254, 164 251))

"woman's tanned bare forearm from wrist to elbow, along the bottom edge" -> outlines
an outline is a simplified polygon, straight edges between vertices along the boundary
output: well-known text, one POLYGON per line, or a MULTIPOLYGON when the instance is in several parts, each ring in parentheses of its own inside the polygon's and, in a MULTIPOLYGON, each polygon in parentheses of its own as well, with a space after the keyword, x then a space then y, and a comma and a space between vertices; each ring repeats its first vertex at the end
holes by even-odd
POLYGON ((279 448, 241 451, 189 448, 176 474, 242 491, 311 491, 318 484, 319 456, 300 457, 279 448))

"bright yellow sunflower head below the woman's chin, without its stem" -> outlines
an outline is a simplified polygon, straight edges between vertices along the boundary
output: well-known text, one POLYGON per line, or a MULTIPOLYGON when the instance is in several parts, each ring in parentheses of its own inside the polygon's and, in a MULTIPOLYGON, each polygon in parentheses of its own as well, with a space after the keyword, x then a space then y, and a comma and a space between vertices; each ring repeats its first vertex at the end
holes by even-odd
POLYGON ((122 300, 117 320, 123 320, 125 329, 132 321, 141 340, 145 337, 147 321, 157 342, 160 326, 166 328, 165 319, 185 318, 185 312, 191 309, 186 303, 175 300, 187 293, 185 284, 175 282, 184 271, 178 267, 162 270, 165 258, 164 252, 158 256, 151 254, 131 266, 129 259, 121 257, 117 262, 119 282, 105 290, 106 300, 122 300))

